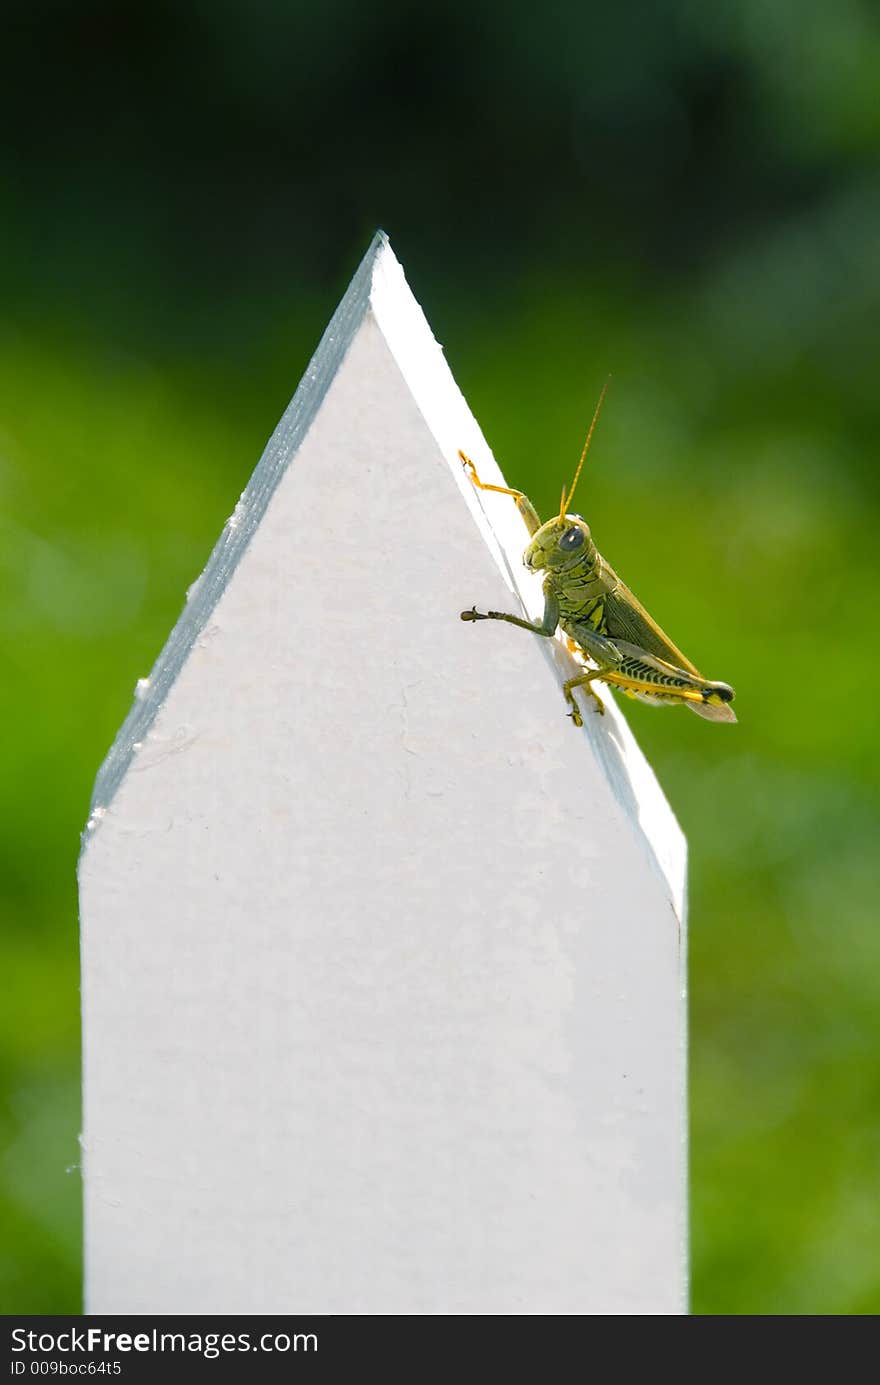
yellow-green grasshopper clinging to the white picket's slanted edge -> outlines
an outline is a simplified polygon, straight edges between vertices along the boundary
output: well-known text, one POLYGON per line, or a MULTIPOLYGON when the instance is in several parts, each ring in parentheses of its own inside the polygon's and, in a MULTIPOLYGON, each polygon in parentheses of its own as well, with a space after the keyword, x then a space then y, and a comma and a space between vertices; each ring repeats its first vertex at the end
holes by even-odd
POLYGON ((560 512, 546 524, 540 522, 528 496, 507 486, 486 485, 477 475, 470 457, 459 453, 479 490, 495 490, 516 500, 531 537, 522 561, 529 572, 546 573, 540 622, 524 620, 502 611, 484 614, 475 607, 463 611, 461 619, 507 620, 546 638, 561 629, 568 637, 568 648, 585 668, 583 673, 568 679, 563 686, 565 701, 571 706, 568 715, 575 726, 583 724, 574 695, 578 687, 588 688, 596 711, 604 712, 604 705, 593 690, 593 680, 608 683, 642 702, 683 704, 708 722, 736 722, 730 706, 733 688, 728 683, 712 683, 703 677, 606 562, 581 515, 568 512, 607 388, 606 381, 571 489, 563 489, 560 512), (588 661, 592 668, 586 668, 588 661))

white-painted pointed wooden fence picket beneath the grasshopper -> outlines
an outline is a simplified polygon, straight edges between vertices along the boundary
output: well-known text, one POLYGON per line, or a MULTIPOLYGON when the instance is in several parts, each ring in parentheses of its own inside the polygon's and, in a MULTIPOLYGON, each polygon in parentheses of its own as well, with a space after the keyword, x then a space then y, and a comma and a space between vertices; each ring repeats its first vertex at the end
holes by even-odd
POLYGON ((685 842, 459 447, 378 235, 97 778, 90 1313, 686 1310, 685 842))

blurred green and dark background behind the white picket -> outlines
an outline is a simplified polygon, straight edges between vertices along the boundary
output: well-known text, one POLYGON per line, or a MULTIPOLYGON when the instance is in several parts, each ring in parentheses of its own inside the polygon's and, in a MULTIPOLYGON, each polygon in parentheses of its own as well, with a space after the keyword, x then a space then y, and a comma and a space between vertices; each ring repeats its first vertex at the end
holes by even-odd
POLYGON ((80 1303, 97 766, 376 226, 509 479, 737 727, 692 853, 693 1306, 880 1312, 880 22, 859 0, 35 0, 0 58, 0 1306, 80 1303))

